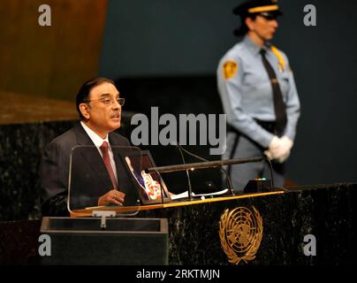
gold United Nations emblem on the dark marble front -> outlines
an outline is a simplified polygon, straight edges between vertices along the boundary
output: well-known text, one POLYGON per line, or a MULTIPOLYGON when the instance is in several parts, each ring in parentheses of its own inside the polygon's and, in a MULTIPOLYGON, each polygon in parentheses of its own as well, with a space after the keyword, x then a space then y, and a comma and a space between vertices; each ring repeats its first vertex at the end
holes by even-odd
POLYGON ((262 241, 262 217, 245 207, 225 210, 219 221, 219 238, 222 249, 232 264, 251 261, 262 241))

